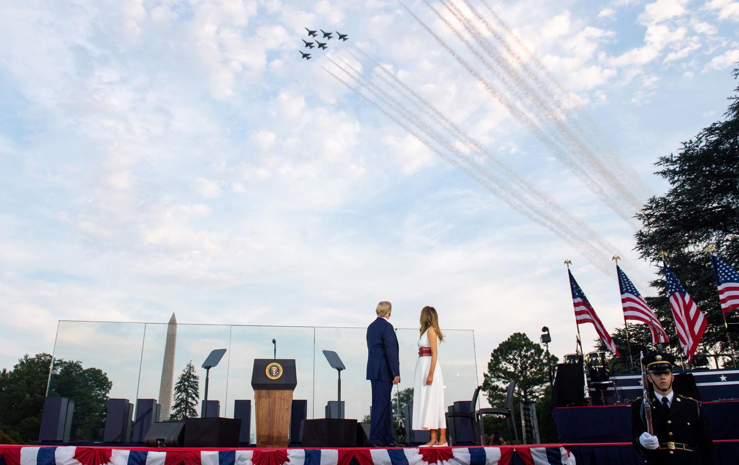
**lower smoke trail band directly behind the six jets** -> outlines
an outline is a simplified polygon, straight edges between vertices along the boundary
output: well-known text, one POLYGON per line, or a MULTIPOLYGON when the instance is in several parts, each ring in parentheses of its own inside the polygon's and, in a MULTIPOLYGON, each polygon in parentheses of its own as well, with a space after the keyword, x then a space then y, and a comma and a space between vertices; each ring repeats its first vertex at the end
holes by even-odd
MULTIPOLYGON (((353 89, 351 86, 350 89, 353 89, 354 92, 357 94, 360 94, 360 96, 367 100, 369 103, 372 104, 372 106, 375 106, 375 108, 378 108, 381 110, 384 114, 386 114, 388 117, 390 117, 395 123, 398 123, 401 125, 402 128, 406 129, 406 131, 409 131, 410 134, 412 134, 414 137, 416 137, 420 142, 422 142, 424 145, 432 149, 436 154, 443 157, 443 159, 446 159, 447 161, 451 162, 452 165, 459 168, 460 171, 463 171, 468 176, 470 176, 472 179, 476 180, 477 182, 480 182, 481 185, 488 188, 494 195, 498 196, 500 199, 503 199, 504 202, 511 205, 511 207, 514 207, 517 211, 524 214, 527 218, 531 219, 532 221, 537 222, 537 224, 541 224, 542 226, 546 227, 548 230, 551 230, 552 232, 555 232, 557 235, 559 235, 561 238, 564 238, 565 241, 568 241, 568 243, 572 244, 573 247, 576 247, 579 250, 582 250, 582 247, 585 247, 586 251, 584 255, 588 256, 588 260, 591 261, 591 263, 595 264, 599 267, 599 269, 602 269, 602 271, 608 273, 612 270, 610 262, 607 260, 604 260, 604 257, 609 255, 613 250, 615 250, 615 247, 611 246, 610 244, 607 244, 605 242, 602 242, 601 247, 604 247, 603 249, 596 248, 592 243, 592 238, 583 238, 581 235, 579 235, 578 232, 575 230, 572 230, 571 227, 568 226, 565 222, 559 221, 559 219, 556 218, 556 216, 552 216, 551 213, 548 213, 548 211, 545 208, 542 208, 540 205, 536 203, 532 203, 526 199, 517 199, 515 196, 517 195, 517 192, 511 192, 511 186, 508 185, 505 181, 502 181, 501 179, 498 179, 497 177, 493 176, 491 173, 486 171, 484 168, 482 168, 480 165, 477 165, 473 160, 469 158, 469 156, 466 156, 462 152, 460 152, 458 149, 454 148, 454 146, 445 140, 445 138, 439 134, 437 131, 435 131, 433 128, 430 127, 430 125, 422 120, 422 118, 419 117, 418 114, 413 113, 408 108, 403 106, 402 103, 398 102, 397 99, 390 96, 386 92, 384 92, 382 89, 378 88, 378 86, 375 86, 375 84, 369 82, 364 76, 361 75, 360 72, 358 72, 356 69, 353 69, 346 61, 341 60, 342 63, 344 63, 349 69, 352 69, 353 72, 347 71, 347 69, 344 69, 343 66, 336 63, 336 61, 333 61, 331 58, 327 57, 327 60, 329 60, 331 63, 333 63, 335 66, 338 67, 338 69, 341 69, 342 72, 347 74, 347 76, 351 77, 355 82, 357 82, 359 85, 365 86, 365 89, 367 89, 368 92, 371 92, 375 95, 375 97, 378 97, 379 100, 383 101, 386 105, 392 107, 395 109, 395 111, 398 111, 399 113, 403 114, 403 117, 408 120, 413 125, 416 125, 423 133, 427 134, 428 137, 430 137, 434 142, 437 143, 442 148, 445 148, 447 151, 454 154, 454 156, 457 157, 457 159, 462 159, 464 162, 466 162, 471 170, 467 168, 466 166, 460 165, 459 162, 457 162, 456 159, 450 159, 449 156, 446 156, 442 151, 440 151, 437 147, 432 145, 429 140, 427 140, 425 137, 418 134, 418 131, 415 131, 412 128, 409 128, 408 125, 401 123, 395 115, 390 114, 389 111, 384 110, 384 108, 381 108, 377 103, 369 99, 369 97, 365 96, 364 94, 361 94, 356 89, 353 89), (359 77, 358 77, 359 76, 359 77), (360 79, 361 77, 361 79, 360 79), (480 177, 482 176, 482 178, 480 177), (491 182, 495 185, 491 185, 491 182), (543 221, 543 220, 546 221, 543 221)), ((324 68, 325 69, 325 68, 324 68)), ((325 69, 327 72, 328 70, 325 69)), ((330 73, 333 75, 333 73, 330 73)), ((336 75, 333 75, 336 77, 336 75)), ((341 80, 339 78, 339 80, 341 80)), ((344 85, 347 85, 343 80, 341 80, 344 85)), ((589 230, 589 228, 588 228, 589 230)), ((591 230, 590 230, 591 231, 591 230)), ((594 235, 596 235, 595 232, 593 232, 594 235)), ((597 235, 596 235, 597 236, 597 235)))

